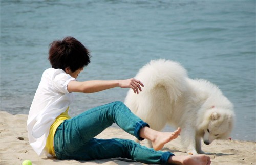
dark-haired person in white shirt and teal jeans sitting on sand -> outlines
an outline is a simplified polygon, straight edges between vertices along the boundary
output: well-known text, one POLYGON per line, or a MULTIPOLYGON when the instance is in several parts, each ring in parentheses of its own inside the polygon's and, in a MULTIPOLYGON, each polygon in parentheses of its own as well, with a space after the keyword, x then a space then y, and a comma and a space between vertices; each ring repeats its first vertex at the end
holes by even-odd
POLYGON ((174 132, 158 132, 134 115, 122 102, 113 102, 85 111, 73 118, 68 115, 73 92, 93 93, 121 87, 142 91, 143 84, 134 78, 126 80, 76 80, 84 66, 90 63, 89 51, 75 38, 67 37, 50 44, 49 61, 35 93, 28 116, 29 143, 38 155, 43 153, 58 159, 93 160, 128 158, 148 164, 210 164, 206 155, 175 156, 159 151, 178 137, 174 132), (96 139, 105 128, 116 123, 127 133, 151 140, 146 148, 133 140, 96 139))

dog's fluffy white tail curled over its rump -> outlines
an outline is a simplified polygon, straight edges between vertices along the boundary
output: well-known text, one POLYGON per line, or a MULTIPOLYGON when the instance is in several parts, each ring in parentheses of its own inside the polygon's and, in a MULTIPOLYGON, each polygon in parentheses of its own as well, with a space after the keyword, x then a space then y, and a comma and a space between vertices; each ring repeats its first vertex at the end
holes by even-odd
POLYGON ((172 102, 186 90, 186 78, 187 72, 178 62, 165 59, 152 60, 136 75, 136 79, 145 85, 142 90, 151 92, 155 87, 163 86, 172 102))

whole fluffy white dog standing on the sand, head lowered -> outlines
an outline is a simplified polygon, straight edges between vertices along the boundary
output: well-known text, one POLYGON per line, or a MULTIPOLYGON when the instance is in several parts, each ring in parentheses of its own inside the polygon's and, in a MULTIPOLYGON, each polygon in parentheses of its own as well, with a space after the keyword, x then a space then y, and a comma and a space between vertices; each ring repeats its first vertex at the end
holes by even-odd
POLYGON ((188 153, 204 153, 202 138, 206 145, 228 138, 234 123, 233 105, 216 85, 190 79, 179 63, 164 59, 152 60, 135 78, 144 88, 139 95, 130 89, 126 106, 152 129, 160 131, 166 124, 181 127, 181 143, 188 153))

